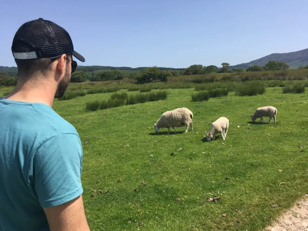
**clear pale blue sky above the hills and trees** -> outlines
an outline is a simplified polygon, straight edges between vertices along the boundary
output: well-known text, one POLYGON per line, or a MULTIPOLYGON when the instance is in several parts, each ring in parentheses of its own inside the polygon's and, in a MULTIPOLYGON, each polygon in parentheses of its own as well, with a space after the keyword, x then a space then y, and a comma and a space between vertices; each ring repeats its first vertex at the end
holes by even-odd
POLYGON ((307 0, 1 1, 0 66, 16 66, 14 34, 36 18, 64 27, 84 66, 246 63, 308 48, 307 8, 307 0))

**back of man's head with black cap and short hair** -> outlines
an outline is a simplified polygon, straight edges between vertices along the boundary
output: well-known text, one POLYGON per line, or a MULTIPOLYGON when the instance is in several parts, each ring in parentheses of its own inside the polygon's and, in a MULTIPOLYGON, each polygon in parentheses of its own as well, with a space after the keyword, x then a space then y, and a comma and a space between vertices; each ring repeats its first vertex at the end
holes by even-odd
MULTIPOLYGON (((17 30, 12 53, 18 67, 18 78, 46 76, 51 71, 51 64, 61 55, 71 56, 80 61, 85 59, 74 51, 68 32, 54 22, 39 18, 22 24, 17 30)), ((75 71, 77 63, 73 63, 75 71)), ((73 67, 73 65, 72 65, 73 67)))

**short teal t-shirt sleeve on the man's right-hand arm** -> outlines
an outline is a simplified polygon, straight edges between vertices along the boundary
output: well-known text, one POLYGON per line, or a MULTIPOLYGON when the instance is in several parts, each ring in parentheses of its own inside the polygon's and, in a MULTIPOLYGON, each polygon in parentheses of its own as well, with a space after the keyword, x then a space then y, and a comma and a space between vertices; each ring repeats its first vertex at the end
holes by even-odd
POLYGON ((61 205, 83 193, 82 158, 76 134, 53 136, 37 148, 33 157, 34 190, 42 207, 61 205))

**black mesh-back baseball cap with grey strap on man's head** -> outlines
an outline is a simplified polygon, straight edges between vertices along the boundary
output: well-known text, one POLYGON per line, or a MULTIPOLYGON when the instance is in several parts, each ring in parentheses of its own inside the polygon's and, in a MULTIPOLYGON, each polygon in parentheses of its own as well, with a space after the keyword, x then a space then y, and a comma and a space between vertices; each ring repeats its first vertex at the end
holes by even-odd
POLYGON ((68 32, 43 18, 26 22, 19 27, 13 39, 12 53, 15 59, 55 59, 66 54, 73 55, 81 62, 85 61, 82 55, 74 51, 68 32))

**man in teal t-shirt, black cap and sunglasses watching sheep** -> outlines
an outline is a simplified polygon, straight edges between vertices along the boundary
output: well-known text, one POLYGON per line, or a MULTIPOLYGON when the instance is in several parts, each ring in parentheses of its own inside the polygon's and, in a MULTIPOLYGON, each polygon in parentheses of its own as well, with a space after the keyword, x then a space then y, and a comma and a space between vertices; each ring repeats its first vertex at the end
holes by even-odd
POLYGON ((39 18, 16 32, 15 89, 0 97, 0 230, 89 231, 76 129, 51 107, 84 62, 70 35, 39 18))

